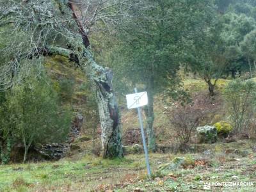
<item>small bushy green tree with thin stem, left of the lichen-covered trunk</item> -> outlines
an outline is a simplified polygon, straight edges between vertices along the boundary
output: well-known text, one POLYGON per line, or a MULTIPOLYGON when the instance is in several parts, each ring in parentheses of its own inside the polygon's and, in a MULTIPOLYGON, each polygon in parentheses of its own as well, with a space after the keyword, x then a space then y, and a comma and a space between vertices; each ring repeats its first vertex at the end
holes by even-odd
POLYGON ((65 141, 71 122, 70 113, 58 107, 51 83, 46 78, 38 79, 35 74, 32 70, 22 84, 14 86, 10 97, 15 134, 24 146, 23 162, 31 145, 65 141))

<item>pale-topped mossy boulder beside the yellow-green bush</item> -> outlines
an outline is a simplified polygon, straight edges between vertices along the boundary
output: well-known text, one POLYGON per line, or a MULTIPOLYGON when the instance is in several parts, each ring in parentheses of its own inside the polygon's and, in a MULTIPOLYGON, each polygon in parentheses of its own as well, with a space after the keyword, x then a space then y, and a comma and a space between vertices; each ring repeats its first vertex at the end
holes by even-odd
POLYGON ((214 143, 217 140, 217 129, 214 126, 197 127, 196 132, 200 143, 214 143))

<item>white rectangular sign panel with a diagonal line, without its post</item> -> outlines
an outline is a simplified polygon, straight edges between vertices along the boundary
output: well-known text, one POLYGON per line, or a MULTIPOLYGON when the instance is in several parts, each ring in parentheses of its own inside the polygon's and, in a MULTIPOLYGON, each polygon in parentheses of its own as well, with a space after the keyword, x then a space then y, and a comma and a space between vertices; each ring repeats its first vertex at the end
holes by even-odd
POLYGON ((148 95, 147 92, 128 94, 126 100, 128 109, 138 108, 148 104, 148 95))

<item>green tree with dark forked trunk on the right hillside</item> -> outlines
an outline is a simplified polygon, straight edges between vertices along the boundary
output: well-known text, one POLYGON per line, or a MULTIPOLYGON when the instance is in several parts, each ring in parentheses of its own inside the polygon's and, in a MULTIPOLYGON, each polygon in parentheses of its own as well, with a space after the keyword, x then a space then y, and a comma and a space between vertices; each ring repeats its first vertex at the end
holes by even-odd
POLYGON ((212 16, 212 23, 205 26, 203 35, 187 43, 190 51, 186 54, 186 63, 197 72, 208 85, 209 95, 214 95, 218 79, 225 72, 225 42, 221 38, 221 22, 212 16))

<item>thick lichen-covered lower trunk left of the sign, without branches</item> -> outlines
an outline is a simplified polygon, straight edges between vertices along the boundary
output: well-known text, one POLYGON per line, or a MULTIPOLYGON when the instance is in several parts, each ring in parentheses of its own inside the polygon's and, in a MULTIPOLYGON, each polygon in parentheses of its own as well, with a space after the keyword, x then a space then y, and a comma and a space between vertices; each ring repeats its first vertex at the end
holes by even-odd
POLYGON ((112 70, 97 65, 90 52, 86 51, 86 53, 88 59, 86 65, 90 69, 88 70, 87 67, 84 69, 95 87, 102 131, 102 156, 103 158, 123 157, 120 115, 113 92, 112 70))

